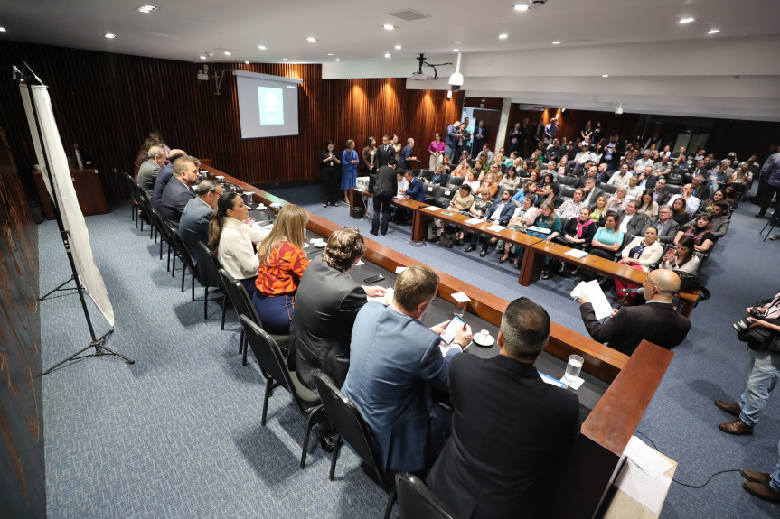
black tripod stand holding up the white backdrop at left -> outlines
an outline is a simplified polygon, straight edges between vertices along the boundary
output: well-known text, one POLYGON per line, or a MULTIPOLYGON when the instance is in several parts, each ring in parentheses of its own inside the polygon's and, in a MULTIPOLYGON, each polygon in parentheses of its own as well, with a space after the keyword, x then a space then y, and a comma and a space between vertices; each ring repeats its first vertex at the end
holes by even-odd
POLYGON ((47 375, 48 373, 51 373, 53 369, 65 364, 66 362, 70 362, 72 360, 79 360, 80 358, 85 357, 100 357, 103 355, 113 355, 115 357, 119 357, 123 359, 127 364, 135 364, 135 360, 132 360, 130 358, 127 358, 116 351, 114 351, 111 348, 106 347, 106 340, 108 339, 108 336, 110 336, 112 333, 114 333, 114 329, 109 329, 105 334, 103 334, 100 337, 97 337, 95 335, 95 329, 92 328, 92 320, 89 318, 89 308, 87 307, 87 301, 84 299, 84 290, 81 286, 81 282, 79 279, 79 273, 76 269, 76 263, 73 260, 73 253, 70 250, 70 232, 65 229, 65 225, 62 222, 62 215, 60 210, 60 201, 57 197, 57 190, 55 189, 54 179, 52 177, 52 168, 49 161, 48 153, 46 153, 46 146, 45 141, 43 140, 43 133, 41 129, 41 121, 38 116, 38 108, 35 105, 35 98, 33 97, 33 83, 40 85, 41 87, 45 88, 45 85, 43 85, 42 81, 38 76, 35 75, 32 69, 30 69, 30 66, 27 65, 27 63, 23 63, 23 71, 19 71, 16 67, 14 67, 14 81, 16 82, 17 86, 23 81, 27 85, 27 94, 30 97, 30 106, 32 107, 33 111, 33 118, 35 120, 35 129, 37 130, 38 134, 38 140, 41 144, 40 149, 43 157, 43 163, 46 168, 46 174, 49 177, 49 185, 52 187, 52 201, 54 206, 54 214, 57 217, 57 226, 60 227, 60 236, 62 238, 62 245, 65 246, 65 252, 68 255, 68 262, 70 263, 70 271, 72 275, 70 276, 70 279, 66 281, 65 283, 62 283, 60 286, 52 290, 51 292, 44 295, 39 301, 42 301, 49 295, 51 295, 53 292, 57 292, 60 290, 73 290, 73 289, 63 289, 62 287, 66 285, 67 283, 70 283, 70 281, 76 282, 75 290, 79 293, 79 299, 81 301, 81 309, 84 310, 84 318, 87 320, 87 327, 89 328, 89 335, 92 338, 92 340, 89 342, 89 345, 85 348, 81 348, 79 351, 71 355, 70 357, 67 357, 54 366, 50 367, 49 369, 43 371, 42 375, 47 375), (90 353, 85 353, 89 348, 95 348, 95 351, 90 353))

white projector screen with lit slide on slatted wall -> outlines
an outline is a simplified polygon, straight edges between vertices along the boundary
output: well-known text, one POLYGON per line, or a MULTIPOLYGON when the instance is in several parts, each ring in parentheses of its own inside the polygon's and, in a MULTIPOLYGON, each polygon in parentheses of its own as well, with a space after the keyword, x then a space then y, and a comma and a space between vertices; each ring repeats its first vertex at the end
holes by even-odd
POLYGON ((233 70, 239 95, 241 138, 298 134, 298 85, 301 79, 233 70))

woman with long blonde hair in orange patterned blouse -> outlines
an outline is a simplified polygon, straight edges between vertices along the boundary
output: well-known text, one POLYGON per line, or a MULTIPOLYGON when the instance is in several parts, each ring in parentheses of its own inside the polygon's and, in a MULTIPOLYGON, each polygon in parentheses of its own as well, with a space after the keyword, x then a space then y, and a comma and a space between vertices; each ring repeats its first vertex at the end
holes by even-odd
POLYGON ((298 283, 309 265, 303 250, 307 220, 303 208, 284 206, 258 247, 258 290, 252 303, 262 316, 263 329, 273 335, 288 335, 293 320, 298 283))

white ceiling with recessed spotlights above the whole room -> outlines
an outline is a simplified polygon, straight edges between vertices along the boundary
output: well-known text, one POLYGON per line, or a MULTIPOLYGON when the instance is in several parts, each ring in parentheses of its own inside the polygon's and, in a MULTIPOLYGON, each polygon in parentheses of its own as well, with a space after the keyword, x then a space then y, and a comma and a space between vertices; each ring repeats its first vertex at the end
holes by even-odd
MULTIPOLYGON (((140 14, 141 0, 0 0, 0 49, 13 40, 193 62, 205 52, 210 63, 287 58, 323 63, 324 78, 339 79, 408 78, 418 53, 454 62, 458 48, 467 95, 780 120, 778 0, 549 0, 524 13, 512 9, 525 1, 151 0, 159 9, 140 14), (407 22, 389 14, 408 7, 430 17, 407 22), (683 16, 696 21, 683 25, 683 16), (721 32, 708 35, 711 28, 721 32), (309 36, 318 41, 306 42, 309 36)), ((408 88, 447 86, 408 81, 408 88)))

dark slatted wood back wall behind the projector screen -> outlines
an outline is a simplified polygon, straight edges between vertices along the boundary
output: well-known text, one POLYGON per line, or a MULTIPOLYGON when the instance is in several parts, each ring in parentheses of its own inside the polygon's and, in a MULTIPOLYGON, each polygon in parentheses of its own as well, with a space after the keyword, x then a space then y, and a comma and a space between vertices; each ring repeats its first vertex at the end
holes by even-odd
MULTIPOLYGON (((213 70, 250 70, 303 79, 299 90, 300 134, 241 140, 235 79, 226 73, 221 95, 214 79, 197 79, 199 63, 156 60, 4 42, 0 70, 26 61, 50 88, 54 115, 66 152, 87 146, 108 196, 121 192, 108 173, 130 171, 151 129, 167 144, 211 159, 211 164, 251 183, 301 181, 319 177, 318 153, 328 139, 342 149, 347 139, 362 149, 368 136, 398 134, 416 140, 415 153, 428 163, 428 143, 444 133, 463 104, 463 93, 407 90, 405 79, 322 79, 320 65, 218 64, 213 70)), ((19 90, 0 82, 0 126, 9 128, 11 150, 28 194, 33 144, 19 90)))

